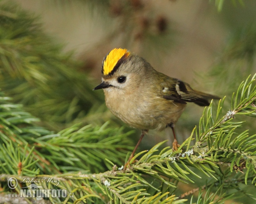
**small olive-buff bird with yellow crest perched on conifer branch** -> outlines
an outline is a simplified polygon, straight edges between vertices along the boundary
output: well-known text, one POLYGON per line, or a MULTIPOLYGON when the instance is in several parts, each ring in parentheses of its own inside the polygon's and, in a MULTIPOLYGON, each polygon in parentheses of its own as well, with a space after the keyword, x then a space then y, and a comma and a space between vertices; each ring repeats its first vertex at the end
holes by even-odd
POLYGON ((131 153, 125 168, 149 129, 171 127, 173 150, 177 143, 174 125, 187 102, 209 105, 209 99, 218 96, 195 91, 186 82, 168 77, 156 70, 142 57, 114 48, 102 61, 102 83, 93 90, 103 89, 109 110, 131 127, 142 130, 139 142, 131 153))

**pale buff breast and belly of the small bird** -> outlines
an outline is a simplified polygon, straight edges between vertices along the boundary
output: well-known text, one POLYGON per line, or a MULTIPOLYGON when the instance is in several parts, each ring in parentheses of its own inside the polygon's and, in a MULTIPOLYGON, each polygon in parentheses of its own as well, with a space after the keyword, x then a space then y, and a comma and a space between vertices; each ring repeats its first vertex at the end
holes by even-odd
POLYGON ((134 128, 163 130, 167 124, 175 123, 185 108, 185 104, 175 104, 150 93, 123 94, 111 89, 104 90, 107 107, 134 128))

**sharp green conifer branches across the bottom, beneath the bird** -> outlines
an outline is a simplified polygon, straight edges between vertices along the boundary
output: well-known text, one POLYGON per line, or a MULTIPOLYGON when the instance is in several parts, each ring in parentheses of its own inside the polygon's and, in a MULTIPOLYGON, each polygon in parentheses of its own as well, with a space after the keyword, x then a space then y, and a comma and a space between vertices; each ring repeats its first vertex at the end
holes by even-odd
MULTIPOLYGON (((20 107, 17 105, 6 102, 9 98, 2 96, 2 178, 4 181, 9 178, 8 175, 15 175, 19 181, 23 181, 24 176, 36 176, 36 179, 55 178, 60 181, 57 187, 74 193, 73 201, 76 202, 86 200, 87 203, 94 201, 128 204, 161 201, 176 204, 186 201, 175 197, 178 181, 195 183, 198 178, 208 177, 209 181, 205 184, 208 189, 207 196, 202 200, 202 194, 199 193, 197 203, 212 203, 217 195, 218 199, 214 202, 222 202, 234 195, 223 193, 224 189, 239 190, 240 183, 256 185, 256 135, 249 136, 247 130, 237 134, 236 128, 241 127, 244 122, 233 121, 234 116, 239 114, 255 116, 255 77, 256 74, 241 83, 236 94, 233 94, 231 109, 226 114, 222 115, 224 100, 220 100, 216 111, 213 110, 212 103, 209 108, 205 108, 199 128, 195 127, 191 136, 177 151, 173 152, 171 147, 165 147, 159 152, 159 147, 166 141, 161 142, 151 150, 134 156, 130 163, 131 168, 127 170, 118 168, 112 162, 116 159, 114 154, 124 156, 122 148, 127 144, 125 136, 116 134, 116 130, 106 130, 105 127, 88 130, 88 126, 78 130, 73 126, 57 135, 47 135, 47 130, 27 125, 35 118, 18 109, 20 107), (21 124, 22 128, 19 127, 21 124), (114 132, 113 136, 101 137, 102 133, 109 135, 111 131, 114 132), (102 140, 97 141, 94 146, 95 139, 102 140), (195 145, 190 146, 193 139, 196 139, 195 145), (113 144, 116 142, 118 144, 113 144), (91 152, 89 148, 92 149, 91 152), (121 152, 114 153, 114 148, 121 152), (101 150, 102 154, 97 149, 101 150), (105 164, 112 170, 98 174, 83 172, 87 167, 98 167, 101 170, 96 162, 102 156, 110 156, 105 161, 111 165, 106 162, 105 164), (135 160, 139 156, 140 159, 135 160), (90 162, 87 158, 90 158, 90 162), (94 159, 95 162, 91 163, 94 159), (69 166, 64 166, 61 161, 64 164, 69 163, 69 166), (74 170, 79 172, 70 172, 74 170), (49 175, 41 175, 42 172, 49 175), (211 193, 213 187, 218 187, 215 194, 211 193)), ((116 159, 114 162, 118 164, 118 161, 116 159)), ((45 189, 54 188, 54 184, 42 185, 45 189)), ((16 189, 17 192, 19 189, 20 187, 16 189)), ((243 193, 242 190, 239 191, 243 193)), ((50 199, 56 202, 55 198, 50 199)), ((71 200, 72 198, 66 198, 64 203, 71 200)))

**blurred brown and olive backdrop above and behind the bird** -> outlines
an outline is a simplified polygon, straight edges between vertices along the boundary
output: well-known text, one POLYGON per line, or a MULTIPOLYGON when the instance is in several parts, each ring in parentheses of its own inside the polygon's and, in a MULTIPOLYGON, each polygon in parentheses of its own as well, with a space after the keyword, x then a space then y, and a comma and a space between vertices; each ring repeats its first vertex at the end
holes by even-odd
MULTIPOLYGON (((115 47, 128 48, 157 71, 220 97, 230 96, 242 79, 256 71, 255 1, 226 0, 221 11, 215 1, 205 0, 16 2, 41 17, 44 31, 56 43, 65 44, 64 52, 74 52, 74 59, 80 62, 79 71, 92 79, 91 87, 101 81, 102 59, 115 47), (251 59, 244 53, 246 49, 251 50, 251 59)), ((103 91, 93 94, 102 102, 103 91)), ((102 110, 104 107, 99 112, 102 110)), ((176 125, 178 135, 183 136, 180 142, 197 125, 202 111, 202 107, 188 105, 176 125)), ((92 114, 88 120, 91 123, 99 118, 116 121, 109 111, 103 116, 92 114)), ((149 146, 166 135, 151 131, 149 146)))

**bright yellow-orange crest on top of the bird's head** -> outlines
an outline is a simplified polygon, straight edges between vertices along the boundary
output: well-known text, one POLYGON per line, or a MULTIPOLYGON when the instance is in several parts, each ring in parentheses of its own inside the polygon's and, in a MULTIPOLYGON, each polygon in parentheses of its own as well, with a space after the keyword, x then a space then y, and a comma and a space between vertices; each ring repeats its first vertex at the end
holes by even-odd
POLYGON ((108 75, 109 73, 111 73, 113 68, 116 66, 118 60, 121 59, 124 55, 128 57, 129 54, 130 52, 127 51, 127 49, 114 48, 113 50, 111 50, 104 61, 103 74, 108 75))

